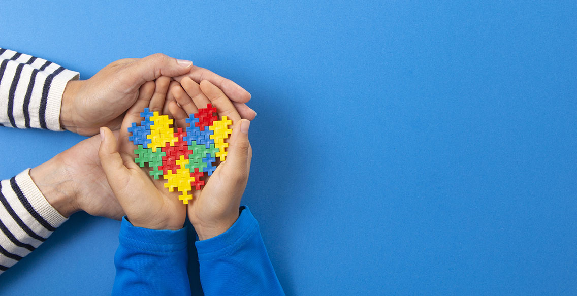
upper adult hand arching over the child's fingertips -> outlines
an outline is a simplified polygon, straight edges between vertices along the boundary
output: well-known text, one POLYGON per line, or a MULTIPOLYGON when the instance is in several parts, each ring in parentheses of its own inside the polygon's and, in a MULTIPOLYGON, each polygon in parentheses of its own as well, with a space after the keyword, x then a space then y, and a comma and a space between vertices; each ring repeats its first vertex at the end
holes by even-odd
POLYGON ((256 116, 244 104, 250 99, 250 93, 237 84, 193 66, 190 61, 153 54, 142 59, 120 59, 88 80, 70 81, 62 95, 61 126, 84 136, 98 133, 101 126, 118 129, 123 114, 134 104, 138 89, 144 83, 160 76, 180 77, 183 74, 226 85, 231 98, 242 106, 243 116, 249 119, 256 116))

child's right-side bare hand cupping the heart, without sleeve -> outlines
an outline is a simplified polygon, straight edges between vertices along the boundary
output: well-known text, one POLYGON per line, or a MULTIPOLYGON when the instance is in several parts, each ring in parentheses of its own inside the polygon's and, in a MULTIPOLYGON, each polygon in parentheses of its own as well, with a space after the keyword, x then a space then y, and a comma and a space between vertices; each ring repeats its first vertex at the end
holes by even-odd
POLYGON ((239 216, 252 159, 248 138, 250 121, 241 119, 231 100, 209 81, 201 81, 198 85, 189 78, 183 78, 181 84, 171 84, 171 95, 180 107, 173 101, 169 102, 168 109, 173 114, 175 125, 181 128, 185 127, 189 114, 197 113, 198 108, 206 108, 208 103, 212 103, 220 117, 227 116, 233 122, 226 161, 216 167, 211 177, 205 177, 206 185, 193 193, 188 204, 188 217, 198 238, 212 238, 228 230, 239 216))

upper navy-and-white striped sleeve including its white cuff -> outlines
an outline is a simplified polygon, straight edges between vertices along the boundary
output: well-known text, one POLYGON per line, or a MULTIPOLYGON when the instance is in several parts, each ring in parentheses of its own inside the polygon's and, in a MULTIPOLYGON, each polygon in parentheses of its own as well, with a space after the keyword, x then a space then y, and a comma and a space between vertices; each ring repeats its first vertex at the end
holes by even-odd
POLYGON ((62 130, 62 94, 78 72, 0 48, 0 125, 62 130))

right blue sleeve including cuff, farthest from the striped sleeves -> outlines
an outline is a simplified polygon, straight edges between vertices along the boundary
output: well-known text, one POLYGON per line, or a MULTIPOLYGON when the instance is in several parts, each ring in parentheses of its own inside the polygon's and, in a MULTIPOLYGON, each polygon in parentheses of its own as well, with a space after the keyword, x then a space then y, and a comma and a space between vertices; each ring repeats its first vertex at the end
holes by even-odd
POLYGON ((237 222, 223 234, 197 241, 196 249, 206 296, 284 295, 248 207, 241 207, 237 222))

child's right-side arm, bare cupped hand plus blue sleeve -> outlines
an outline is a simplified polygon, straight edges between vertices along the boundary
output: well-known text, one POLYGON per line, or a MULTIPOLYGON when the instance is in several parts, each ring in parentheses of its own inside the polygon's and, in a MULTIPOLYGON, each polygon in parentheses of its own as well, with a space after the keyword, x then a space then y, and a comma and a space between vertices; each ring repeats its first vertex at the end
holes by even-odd
POLYGON ((252 160, 250 122, 241 119, 226 95, 208 81, 198 85, 182 80, 181 84, 184 90, 174 85, 171 92, 185 110, 175 103, 169 106, 177 124, 207 103, 233 122, 226 161, 188 205, 188 216, 199 238, 196 248, 204 294, 284 295, 258 223, 248 207, 240 207, 252 160))

